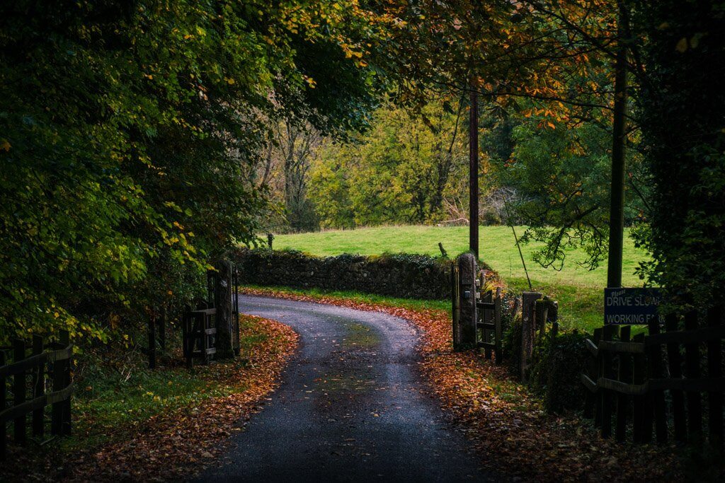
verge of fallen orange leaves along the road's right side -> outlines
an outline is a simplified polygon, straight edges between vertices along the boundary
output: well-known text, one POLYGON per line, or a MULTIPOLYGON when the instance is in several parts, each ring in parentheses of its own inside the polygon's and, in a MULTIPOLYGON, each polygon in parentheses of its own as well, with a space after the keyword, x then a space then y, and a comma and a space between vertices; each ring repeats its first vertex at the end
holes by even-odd
POLYGON ((428 390, 471 440, 481 464, 514 479, 631 481, 647 475, 647 479, 673 481, 683 477, 684 465, 674 445, 635 446, 602 440, 576 414, 547 414, 540 401, 513 381, 503 366, 495 366, 476 351, 454 353, 446 311, 277 289, 244 291, 381 311, 414 324, 421 333, 419 368, 428 390))

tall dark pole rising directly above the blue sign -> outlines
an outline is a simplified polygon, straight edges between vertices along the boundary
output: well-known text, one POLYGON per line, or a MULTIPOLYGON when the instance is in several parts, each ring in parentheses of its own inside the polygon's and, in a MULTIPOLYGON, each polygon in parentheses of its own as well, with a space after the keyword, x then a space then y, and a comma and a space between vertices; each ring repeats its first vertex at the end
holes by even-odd
POLYGON ((614 122, 612 144, 612 193, 609 208, 609 260, 607 287, 622 286, 624 241, 624 147, 627 109, 627 51, 625 37, 629 19, 622 0, 617 1, 617 53, 614 61, 614 122))

